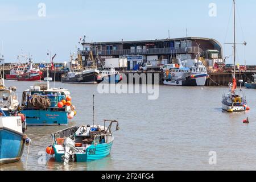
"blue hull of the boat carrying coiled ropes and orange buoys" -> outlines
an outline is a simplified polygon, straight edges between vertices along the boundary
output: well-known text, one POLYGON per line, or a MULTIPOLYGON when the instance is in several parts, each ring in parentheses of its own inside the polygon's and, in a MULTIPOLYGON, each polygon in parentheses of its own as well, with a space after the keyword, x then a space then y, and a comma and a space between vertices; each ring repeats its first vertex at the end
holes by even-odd
POLYGON ((27 125, 68 125, 66 111, 51 110, 23 110, 26 115, 27 125))

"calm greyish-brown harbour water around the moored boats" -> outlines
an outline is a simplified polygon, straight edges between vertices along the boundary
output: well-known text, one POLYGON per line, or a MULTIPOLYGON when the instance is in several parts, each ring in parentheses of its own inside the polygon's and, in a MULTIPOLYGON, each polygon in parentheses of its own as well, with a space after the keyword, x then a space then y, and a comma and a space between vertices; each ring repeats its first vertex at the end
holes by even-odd
MULTIPOLYGON (((16 86, 19 99, 34 82, 6 81, 16 86)), ((53 83, 51 83, 51 86, 53 83)), ((63 166, 48 161, 46 147, 51 133, 67 126, 28 126, 32 139, 28 160, 26 146, 22 160, 0 166, 1 170, 234 170, 256 168, 256 97, 244 89, 250 111, 222 113, 225 87, 159 86, 158 100, 147 94, 99 94, 97 85, 61 84, 72 94, 77 115, 69 126, 92 123, 92 95, 96 120, 117 119, 121 130, 114 132, 111 155, 88 163, 63 166), (242 123, 249 117, 250 123, 242 123), (216 152, 216 165, 209 164, 209 152, 216 152), (43 155, 42 155, 43 154, 43 155), (44 163, 46 160, 46 163, 44 163)))

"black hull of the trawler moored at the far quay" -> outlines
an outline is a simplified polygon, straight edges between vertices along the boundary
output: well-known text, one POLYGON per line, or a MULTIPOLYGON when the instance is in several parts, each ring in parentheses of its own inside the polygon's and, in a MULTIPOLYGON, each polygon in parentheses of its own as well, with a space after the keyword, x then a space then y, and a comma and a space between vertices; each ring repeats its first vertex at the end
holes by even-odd
POLYGON ((74 77, 62 76, 61 82, 71 84, 96 84, 98 79, 98 72, 91 71, 77 74, 74 77))

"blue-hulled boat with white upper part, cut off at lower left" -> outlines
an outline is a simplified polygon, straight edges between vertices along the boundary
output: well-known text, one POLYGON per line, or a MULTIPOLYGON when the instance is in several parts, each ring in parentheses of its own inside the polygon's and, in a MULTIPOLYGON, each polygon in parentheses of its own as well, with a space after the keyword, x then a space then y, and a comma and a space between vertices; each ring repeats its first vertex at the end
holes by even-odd
POLYGON ((24 135, 26 117, 18 111, 7 116, 0 109, 0 164, 17 162, 23 154, 24 144, 30 139, 24 135))

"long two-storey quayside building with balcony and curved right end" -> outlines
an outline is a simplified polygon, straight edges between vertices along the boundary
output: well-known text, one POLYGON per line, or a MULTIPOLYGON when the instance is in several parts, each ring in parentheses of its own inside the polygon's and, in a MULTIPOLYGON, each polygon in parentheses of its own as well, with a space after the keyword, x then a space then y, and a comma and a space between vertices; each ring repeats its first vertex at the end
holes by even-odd
POLYGON ((176 39, 155 39, 136 40, 119 42, 94 42, 81 43, 84 64, 87 65, 88 58, 92 52, 93 56, 98 55, 100 61, 105 59, 119 58, 122 56, 137 56, 136 59, 127 60, 127 70, 132 70, 138 63, 151 62, 152 65, 164 65, 175 63, 178 56, 182 59, 195 59, 197 53, 205 59, 205 67, 213 67, 214 63, 223 61, 221 44, 215 39, 209 38, 176 38, 176 39), (141 59, 138 59, 138 56, 141 59))

